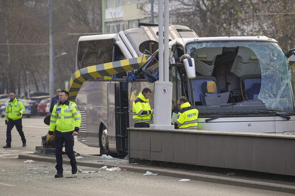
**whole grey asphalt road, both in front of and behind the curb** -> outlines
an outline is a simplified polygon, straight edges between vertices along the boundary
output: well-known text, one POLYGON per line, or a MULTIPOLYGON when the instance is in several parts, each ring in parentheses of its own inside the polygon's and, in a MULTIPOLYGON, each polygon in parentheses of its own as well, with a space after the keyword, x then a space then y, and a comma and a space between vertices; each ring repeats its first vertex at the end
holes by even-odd
MULTIPOLYGON (((43 117, 23 118, 22 121, 27 146, 22 147, 20 136, 14 128, 12 148, 4 149, 6 125, 4 118, 0 120, 1 195, 289 195, 197 180, 179 182, 180 179, 176 177, 143 176, 137 172, 106 171, 84 166, 78 166, 78 169, 98 172, 72 175, 70 165, 64 165, 64 177, 54 178, 55 163, 24 163, 24 160, 17 159, 18 154, 33 153, 35 147, 41 145, 41 136, 48 131, 43 117)), ((82 156, 99 154, 99 148, 88 147, 78 141, 74 150, 82 156)))

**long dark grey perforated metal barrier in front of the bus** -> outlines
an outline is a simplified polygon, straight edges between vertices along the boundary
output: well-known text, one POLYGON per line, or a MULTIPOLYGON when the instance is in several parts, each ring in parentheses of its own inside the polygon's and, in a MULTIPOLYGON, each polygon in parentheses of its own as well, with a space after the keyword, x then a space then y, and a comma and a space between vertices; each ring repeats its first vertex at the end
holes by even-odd
POLYGON ((129 129, 129 160, 145 159, 295 175, 295 136, 129 129))

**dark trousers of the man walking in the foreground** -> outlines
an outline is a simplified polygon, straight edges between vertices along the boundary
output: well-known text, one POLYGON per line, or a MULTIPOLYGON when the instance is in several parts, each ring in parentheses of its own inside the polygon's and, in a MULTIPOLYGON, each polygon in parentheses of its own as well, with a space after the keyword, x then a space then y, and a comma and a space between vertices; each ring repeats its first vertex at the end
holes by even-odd
POLYGON ((74 167, 77 163, 74 153, 74 136, 72 134, 73 131, 60 132, 55 130, 55 168, 57 172, 63 172, 63 144, 65 144, 65 153, 67 153, 70 159, 71 166, 74 167))

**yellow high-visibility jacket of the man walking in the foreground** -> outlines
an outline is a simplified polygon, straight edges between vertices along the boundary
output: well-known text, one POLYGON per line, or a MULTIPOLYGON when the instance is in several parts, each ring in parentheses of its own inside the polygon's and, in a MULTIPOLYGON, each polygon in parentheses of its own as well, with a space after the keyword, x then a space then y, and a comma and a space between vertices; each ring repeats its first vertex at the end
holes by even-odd
POLYGON ((54 105, 50 117, 49 135, 53 135, 55 125, 56 130, 60 132, 73 130, 78 132, 81 119, 81 113, 76 103, 69 100, 65 100, 63 104, 58 102, 54 105))

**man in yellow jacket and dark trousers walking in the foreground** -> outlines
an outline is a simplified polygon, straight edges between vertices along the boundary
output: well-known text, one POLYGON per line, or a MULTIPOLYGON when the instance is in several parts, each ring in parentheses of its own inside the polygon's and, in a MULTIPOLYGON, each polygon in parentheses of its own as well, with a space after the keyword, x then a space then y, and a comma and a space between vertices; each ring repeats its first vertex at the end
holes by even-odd
POLYGON ((81 114, 76 103, 68 100, 69 92, 61 90, 59 102, 53 106, 49 125, 49 138, 53 139, 55 130, 55 158, 57 174, 54 177, 63 177, 62 150, 65 144, 65 152, 70 159, 72 174, 77 173, 77 162, 74 154, 74 135, 78 135, 81 124, 81 114))

